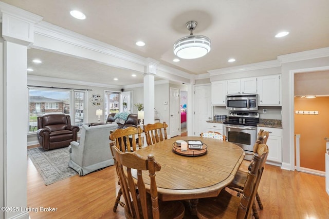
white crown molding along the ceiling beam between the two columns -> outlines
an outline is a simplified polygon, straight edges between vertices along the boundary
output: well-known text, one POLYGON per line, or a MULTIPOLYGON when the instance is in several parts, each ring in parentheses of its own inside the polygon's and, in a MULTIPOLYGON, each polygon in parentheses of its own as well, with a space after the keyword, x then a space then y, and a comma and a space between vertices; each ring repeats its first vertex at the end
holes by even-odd
POLYGON ((97 41, 96 39, 81 35, 79 33, 61 28, 59 26, 47 23, 45 21, 35 25, 34 33, 57 39, 59 41, 76 45, 82 48, 97 51, 106 55, 124 59, 132 63, 145 66, 148 63, 145 57, 136 55, 131 52, 127 52, 118 47, 111 46, 109 44, 97 41))

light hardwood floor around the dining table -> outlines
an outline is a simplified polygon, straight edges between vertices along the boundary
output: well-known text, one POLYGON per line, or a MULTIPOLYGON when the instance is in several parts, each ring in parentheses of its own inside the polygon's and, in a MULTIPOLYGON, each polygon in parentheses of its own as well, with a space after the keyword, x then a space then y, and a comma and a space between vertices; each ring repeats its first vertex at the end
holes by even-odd
MULTIPOLYGON (((113 212, 118 191, 115 167, 85 176, 72 176, 45 186, 28 158, 27 204, 34 218, 124 218, 121 206, 113 212), (40 207, 56 208, 41 212, 40 207)), ((329 196, 322 176, 281 170, 266 165, 258 190, 264 210, 260 218, 329 218, 329 196)), ((185 218, 191 217, 189 214, 185 218)))

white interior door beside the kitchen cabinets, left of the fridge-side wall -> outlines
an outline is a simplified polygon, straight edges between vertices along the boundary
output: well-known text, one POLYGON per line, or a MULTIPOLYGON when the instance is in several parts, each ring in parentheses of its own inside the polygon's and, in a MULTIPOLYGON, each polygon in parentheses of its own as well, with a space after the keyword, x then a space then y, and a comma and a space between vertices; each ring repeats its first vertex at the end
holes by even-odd
POLYGON ((207 120, 211 119, 212 106, 210 99, 210 85, 195 86, 194 101, 194 135, 198 136, 207 131, 207 120))

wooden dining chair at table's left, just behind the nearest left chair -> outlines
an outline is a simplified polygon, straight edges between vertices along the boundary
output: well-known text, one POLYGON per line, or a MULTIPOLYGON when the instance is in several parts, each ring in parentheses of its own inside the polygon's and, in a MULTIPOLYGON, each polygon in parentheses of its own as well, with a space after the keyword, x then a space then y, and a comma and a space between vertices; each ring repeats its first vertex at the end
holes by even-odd
MULTIPOLYGON (((111 146, 116 146, 120 151, 135 151, 137 150, 137 144, 135 137, 137 135, 138 142, 141 142, 141 128, 140 126, 136 127, 127 127, 125 129, 116 129, 109 135, 109 139, 112 141, 111 146)), ((138 144, 139 147, 141 144, 138 144)), ((118 181, 120 185, 120 180, 118 181)), ((124 203, 120 201, 122 195, 121 187, 118 191, 117 198, 113 207, 113 211, 116 212, 118 205, 124 207, 124 203)))

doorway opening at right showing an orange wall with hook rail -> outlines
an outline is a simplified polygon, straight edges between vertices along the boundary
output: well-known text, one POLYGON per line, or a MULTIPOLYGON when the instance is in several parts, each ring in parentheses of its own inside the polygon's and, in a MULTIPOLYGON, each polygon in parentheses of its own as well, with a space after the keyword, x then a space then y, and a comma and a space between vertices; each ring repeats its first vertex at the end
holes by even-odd
POLYGON ((290 154, 296 170, 316 175, 325 174, 325 140, 329 134, 326 124, 329 116, 329 67, 292 72, 293 78, 293 136, 290 154), (307 98, 316 97, 316 98, 307 98))

